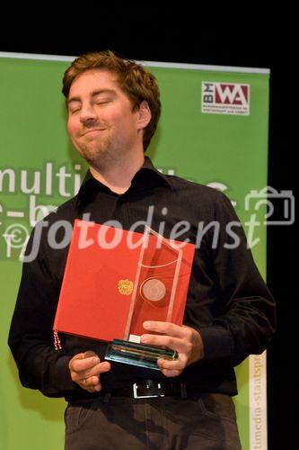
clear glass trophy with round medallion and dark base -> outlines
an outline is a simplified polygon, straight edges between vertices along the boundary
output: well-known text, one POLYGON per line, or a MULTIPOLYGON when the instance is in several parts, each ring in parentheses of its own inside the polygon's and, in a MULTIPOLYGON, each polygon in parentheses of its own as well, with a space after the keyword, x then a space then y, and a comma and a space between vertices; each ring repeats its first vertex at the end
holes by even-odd
POLYGON ((141 344, 140 337, 154 334, 143 328, 145 320, 171 321, 181 260, 180 247, 145 226, 125 335, 110 342, 106 360, 159 370, 158 358, 178 359, 176 351, 141 344))

